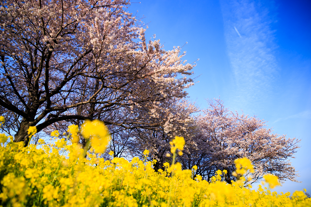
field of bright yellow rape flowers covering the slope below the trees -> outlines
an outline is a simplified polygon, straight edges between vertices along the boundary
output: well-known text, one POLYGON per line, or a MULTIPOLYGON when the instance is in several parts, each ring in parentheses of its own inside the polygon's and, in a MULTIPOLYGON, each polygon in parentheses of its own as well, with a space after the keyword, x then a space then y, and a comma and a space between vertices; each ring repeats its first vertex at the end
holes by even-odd
MULTIPOLYGON (((77 132, 74 129, 69 127, 72 141, 77 132)), ((218 170, 207 182, 195 175, 197 166, 182 170, 179 162, 166 162, 165 170, 155 172, 156 160, 134 157, 128 161, 113 158, 113 153, 111 159, 104 160, 97 153, 109 139, 108 132, 102 129, 105 127, 99 121, 82 126, 81 132, 91 140, 90 145, 95 144, 86 157, 85 149, 78 143, 58 139, 58 132, 52 133, 55 142, 40 142, 40 147, 24 147, 23 142, 12 142, 1 134, 0 206, 311 206, 311 199, 303 191, 290 197, 289 192, 277 194, 261 186, 251 190, 245 182, 228 184, 222 177, 226 170, 218 170)), ((172 147, 183 149, 183 138, 176 137, 173 143, 172 147)), ((148 154, 148 150, 144 151, 145 157, 148 154)), ((246 158, 235 163, 243 181, 242 171, 251 170, 252 164, 246 158)), ((277 185, 272 175, 266 177, 266 182, 277 185)))

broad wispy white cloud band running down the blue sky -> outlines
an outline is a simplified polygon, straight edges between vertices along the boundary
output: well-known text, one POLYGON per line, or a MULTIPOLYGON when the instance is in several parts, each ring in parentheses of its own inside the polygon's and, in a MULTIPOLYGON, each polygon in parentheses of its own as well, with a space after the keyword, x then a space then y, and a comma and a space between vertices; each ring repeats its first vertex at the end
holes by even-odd
POLYGON ((230 102, 234 108, 246 111, 262 108, 273 97, 279 70, 268 11, 250 0, 221 0, 221 7, 227 54, 235 82, 230 102))

